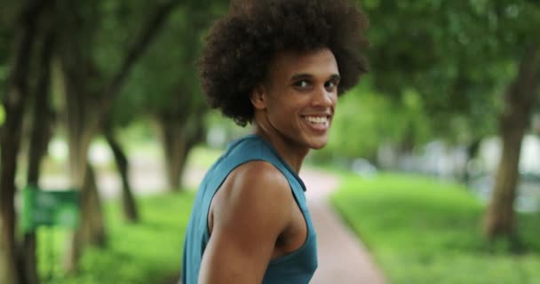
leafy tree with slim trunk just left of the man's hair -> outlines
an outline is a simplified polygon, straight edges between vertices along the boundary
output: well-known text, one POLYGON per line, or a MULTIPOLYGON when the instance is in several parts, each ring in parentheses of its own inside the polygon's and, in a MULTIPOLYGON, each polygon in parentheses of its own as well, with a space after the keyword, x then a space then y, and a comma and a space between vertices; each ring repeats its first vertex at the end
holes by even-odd
POLYGON ((128 104, 128 97, 139 98, 134 107, 144 108, 153 118, 163 144, 167 181, 174 190, 182 185, 187 153, 205 133, 206 106, 195 63, 210 20, 224 10, 219 1, 185 2, 132 73, 131 82, 137 84, 129 84, 116 103, 120 108, 128 104))

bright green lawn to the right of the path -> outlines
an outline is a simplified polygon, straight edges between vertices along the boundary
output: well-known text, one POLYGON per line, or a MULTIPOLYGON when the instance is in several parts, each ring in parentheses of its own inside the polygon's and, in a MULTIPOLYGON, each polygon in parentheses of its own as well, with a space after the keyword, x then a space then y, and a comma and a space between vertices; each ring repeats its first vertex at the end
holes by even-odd
POLYGON ((460 185, 427 177, 345 176, 331 201, 390 283, 540 283, 540 215, 520 215, 527 250, 488 243, 484 207, 460 185))

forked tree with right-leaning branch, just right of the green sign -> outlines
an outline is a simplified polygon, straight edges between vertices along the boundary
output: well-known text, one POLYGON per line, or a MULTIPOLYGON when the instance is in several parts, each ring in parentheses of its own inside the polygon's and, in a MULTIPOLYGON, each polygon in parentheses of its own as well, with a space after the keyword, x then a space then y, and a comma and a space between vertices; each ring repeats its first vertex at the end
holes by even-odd
MULTIPOLYGON (((86 153, 91 138, 98 133, 103 119, 108 112, 118 92, 120 91, 131 67, 146 51, 157 32, 163 27, 172 9, 179 1, 170 1, 157 4, 150 8, 147 20, 142 20, 144 26, 139 35, 131 43, 131 47, 116 66, 112 75, 104 75, 96 62, 97 41, 99 31, 100 8, 110 2, 72 2, 60 1, 58 11, 62 20, 60 30, 60 66, 64 75, 66 94, 66 124, 69 142, 69 164, 71 170, 71 184, 74 188, 91 190, 95 186, 84 186, 86 180, 87 159, 86 153)), ((90 183, 91 185, 91 183, 90 183)), ((97 193, 82 193, 83 196, 98 196, 97 193)), ((87 220, 99 219, 99 204, 84 204, 84 202, 99 201, 98 198, 83 199, 82 224, 95 224, 95 237, 87 240, 101 240, 100 228, 104 226, 87 220)), ((101 221, 102 223, 102 221, 101 221)), ((75 268, 83 248, 80 233, 75 234, 73 245, 66 259, 68 270, 75 268)))

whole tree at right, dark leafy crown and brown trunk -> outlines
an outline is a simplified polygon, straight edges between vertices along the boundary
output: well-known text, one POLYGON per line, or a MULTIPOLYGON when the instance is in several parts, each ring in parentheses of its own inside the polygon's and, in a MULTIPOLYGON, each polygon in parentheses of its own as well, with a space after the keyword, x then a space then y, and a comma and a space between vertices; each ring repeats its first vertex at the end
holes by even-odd
POLYGON ((373 23, 369 58, 377 90, 399 96, 402 89, 414 88, 433 122, 441 125, 435 129, 448 129, 449 117, 484 125, 498 115, 504 151, 485 233, 489 238, 512 235, 516 155, 530 118, 524 106, 538 92, 538 38, 531 35, 540 24, 540 4, 381 0, 364 6, 373 23))

